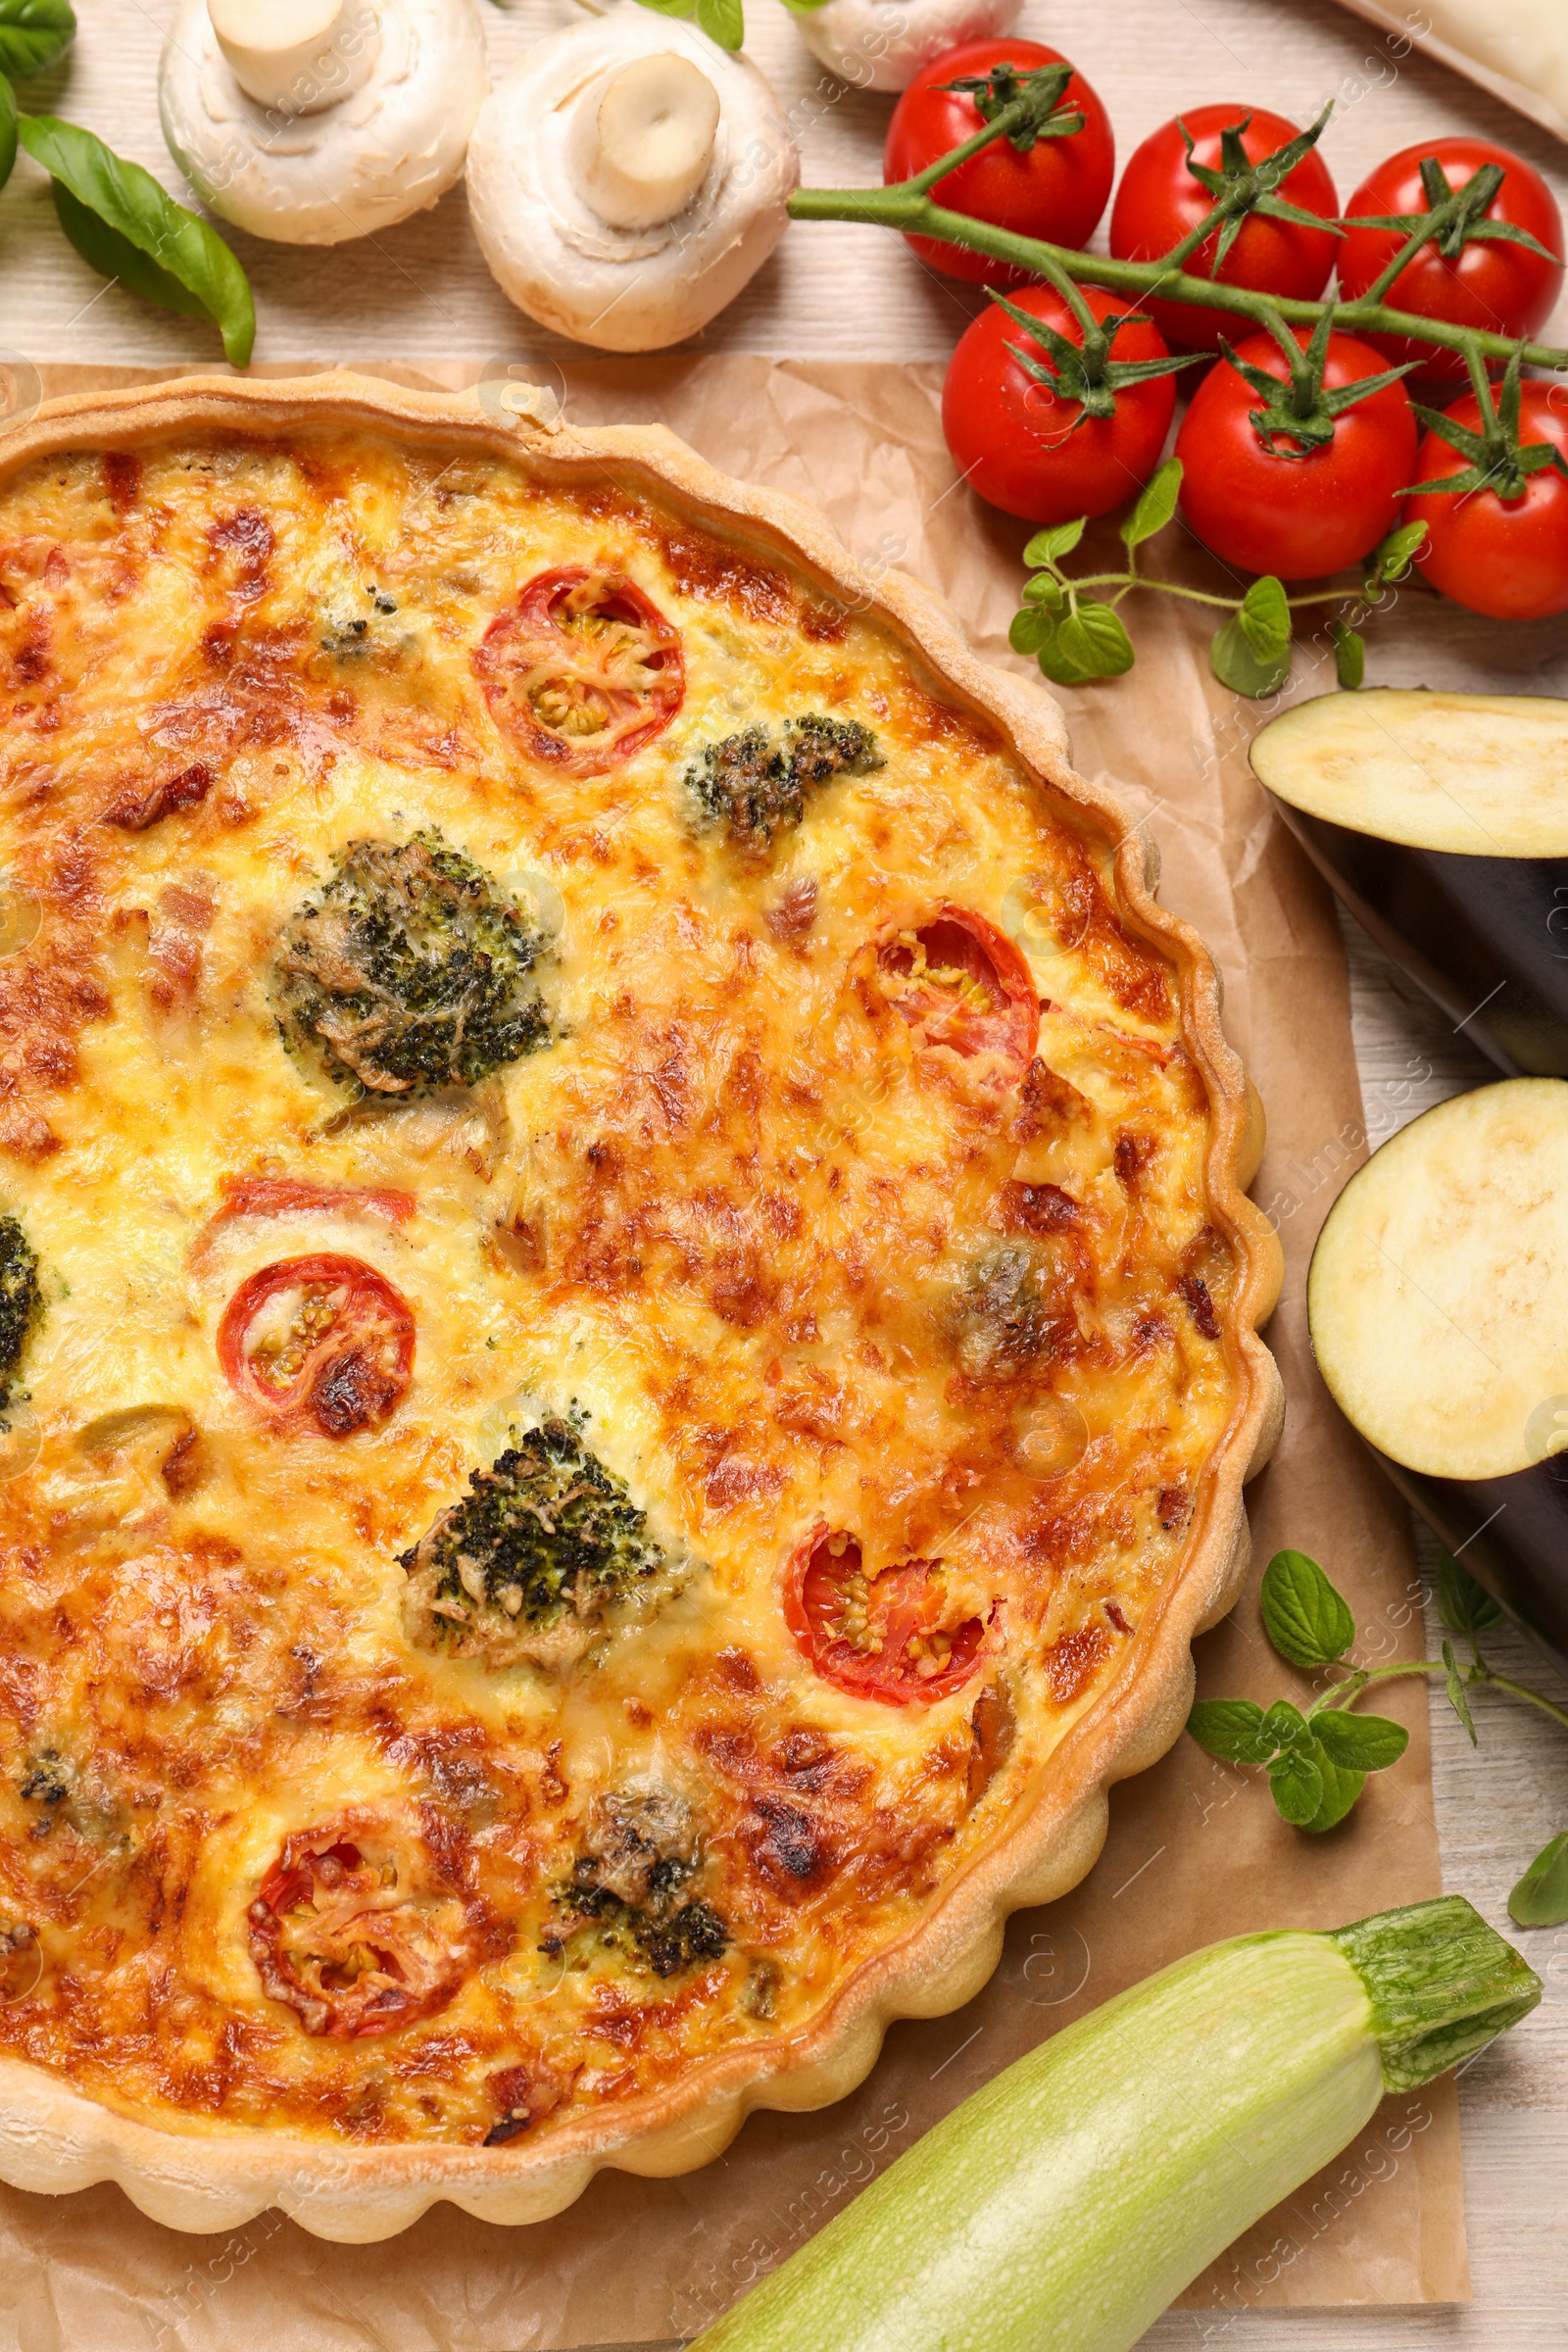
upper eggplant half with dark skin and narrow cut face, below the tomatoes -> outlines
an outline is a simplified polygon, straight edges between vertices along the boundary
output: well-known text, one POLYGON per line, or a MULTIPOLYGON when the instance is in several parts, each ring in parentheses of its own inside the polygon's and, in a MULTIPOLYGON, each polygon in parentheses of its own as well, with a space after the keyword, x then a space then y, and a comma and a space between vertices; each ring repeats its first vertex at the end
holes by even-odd
POLYGON ((1500 1070, 1568 1077, 1568 703, 1371 687, 1253 739, 1328 887, 1500 1070))

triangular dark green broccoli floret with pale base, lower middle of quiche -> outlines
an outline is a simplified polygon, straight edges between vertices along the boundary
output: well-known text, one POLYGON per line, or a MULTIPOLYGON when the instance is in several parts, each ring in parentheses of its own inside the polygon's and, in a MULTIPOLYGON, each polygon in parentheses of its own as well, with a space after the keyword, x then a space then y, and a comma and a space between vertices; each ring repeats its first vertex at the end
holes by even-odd
POLYGON ((665 1555, 625 1484, 567 1421, 545 1421, 400 1555, 404 1623, 425 1649, 567 1665, 665 1555))

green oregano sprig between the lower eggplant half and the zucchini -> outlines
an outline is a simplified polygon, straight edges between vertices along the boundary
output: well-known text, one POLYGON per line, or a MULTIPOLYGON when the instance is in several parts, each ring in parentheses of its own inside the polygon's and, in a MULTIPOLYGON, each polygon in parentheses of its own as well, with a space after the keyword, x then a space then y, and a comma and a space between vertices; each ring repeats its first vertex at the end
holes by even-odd
MULTIPOLYGON (((1269 1646, 1307 1675, 1347 1661, 1356 1639, 1349 1602, 1307 1552, 1274 1552, 1262 1571, 1258 1609, 1269 1646)), ((1345 1820, 1368 1773, 1387 1771, 1406 1752, 1403 1724, 1352 1712, 1375 1682, 1441 1675, 1448 1705, 1472 1745, 1474 1689, 1521 1698, 1568 1729, 1568 1710, 1488 1663, 1481 1635, 1502 1623, 1502 1609, 1450 1552, 1439 1557, 1436 1613, 1446 1628, 1441 1658, 1356 1665, 1307 1710, 1288 1698, 1276 1698, 1269 1708, 1253 1698, 1201 1698, 1187 1717, 1187 1731, 1206 1755, 1225 1764, 1262 1766, 1281 1818, 1298 1830, 1321 1832, 1345 1820), (1460 1665, 1455 1637, 1469 1646, 1469 1665, 1460 1665)), ((1509 1912, 1521 1926, 1556 1926, 1568 1919, 1568 1832, 1535 1856, 1509 1896, 1509 1912)))

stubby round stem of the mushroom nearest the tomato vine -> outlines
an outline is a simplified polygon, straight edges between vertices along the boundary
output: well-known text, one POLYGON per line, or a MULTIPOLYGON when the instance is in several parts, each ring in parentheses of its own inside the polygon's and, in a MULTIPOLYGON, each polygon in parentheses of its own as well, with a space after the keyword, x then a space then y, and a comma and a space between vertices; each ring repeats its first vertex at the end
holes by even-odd
POLYGON ((684 212, 708 176, 719 94, 701 66, 663 49, 621 66, 597 103, 588 89, 578 118, 583 198, 611 228, 656 228, 684 212))

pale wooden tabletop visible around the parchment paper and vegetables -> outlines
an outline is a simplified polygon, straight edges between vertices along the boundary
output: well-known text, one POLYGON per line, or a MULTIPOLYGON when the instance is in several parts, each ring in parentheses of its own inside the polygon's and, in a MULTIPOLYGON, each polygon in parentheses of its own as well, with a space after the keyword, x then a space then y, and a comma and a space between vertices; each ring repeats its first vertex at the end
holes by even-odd
MULTIPOLYGON (((1568 7, 1568 0, 1561 0, 1568 7)), ((78 0, 82 38, 56 73, 24 89, 148 165, 188 198, 160 132, 155 73, 172 0, 78 0)), ((496 68, 569 21, 569 0, 487 7, 496 68)), ((792 113, 806 179, 879 176, 886 99, 844 89, 799 42, 776 0, 748 0, 750 49, 792 113)), ((1338 99, 1324 155, 1347 198, 1382 155, 1443 129, 1474 129, 1528 155, 1568 212, 1568 148, 1418 54, 1389 47, 1331 0, 1025 0, 1020 31, 1072 56, 1107 101, 1126 155, 1180 106, 1237 99, 1305 122, 1338 99)), ((463 198, 336 252, 235 238, 252 273, 259 360, 522 360, 559 350, 498 294, 463 198)), ((872 228, 792 228, 780 254, 703 339, 708 350, 778 358, 945 358, 976 296, 924 270, 872 228)), ((1568 341, 1568 303, 1556 341, 1568 341)), ((165 318, 75 259, 45 176, 24 158, 0 195, 0 346, 33 360, 176 365, 216 358, 216 339, 165 318)), ((1521 684, 1528 684, 1521 682, 1521 684)), ((1356 1056, 1368 1131, 1490 1075, 1354 929, 1356 1056), (1418 1075, 1415 1082, 1410 1073, 1418 1075)), ((1436 1628, 1432 1628, 1436 1642, 1436 1628)), ((1495 1642, 1507 1672, 1549 1684, 1523 1642, 1495 1642)), ((1436 1651, 1432 1651, 1436 1653, 1436 1651)), ((1479 1705, 1481 1748, 1434 1700, 1436 1816, 1446 1884, 1507 1924, 1523 1860, 1568 1828, 1568 1740, 1544 1719, 1479 1705)), ((1547 1980, 1542 2011, 1460 2084, 1469 2204, 1469 2307, 1171 2314, 1157 2352, 1563 2352, 1568 2307, 1568 1929, 1521 1938, 1547 1980)), ((369 2338, 367 2338, 369 2343, 369 2338)), ((501 2352, 501 2347, 496 2347, 501 2352)), ((802 2347, 806 2352, 806 2347, 802 2347)))

